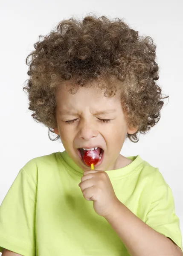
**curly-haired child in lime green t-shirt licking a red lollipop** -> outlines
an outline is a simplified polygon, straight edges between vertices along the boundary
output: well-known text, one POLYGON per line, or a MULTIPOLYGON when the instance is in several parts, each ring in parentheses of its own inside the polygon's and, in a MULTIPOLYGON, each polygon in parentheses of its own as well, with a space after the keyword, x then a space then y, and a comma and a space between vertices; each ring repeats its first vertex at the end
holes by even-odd
POLYGON ((183 255, 170 187, 139 155, 120 154, 159 121, 167 98, 152 38, 87 16, 61 21, 34 47, 29 109, 65 151, 20 169, 0 207, 3 256, 183 255))

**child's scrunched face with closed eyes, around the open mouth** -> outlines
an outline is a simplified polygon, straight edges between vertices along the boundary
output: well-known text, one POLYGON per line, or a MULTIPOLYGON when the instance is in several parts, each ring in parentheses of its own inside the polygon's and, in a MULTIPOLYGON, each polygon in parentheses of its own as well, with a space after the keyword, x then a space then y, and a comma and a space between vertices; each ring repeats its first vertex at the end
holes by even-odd
MULTIPOLYGON (((60 134, 65 150, 81 169, 86 166, 78 148, 103 149, 97 170, 117 169, 120 151, 127 132, 133 134, 122 111, 119 93, 105 97, 100 89, 80 87, 71 94, 66 86, 56 92, 56 119, 58 127, 54 132, 60 134), (110 119, 110 121, 106 121, 110 119)), ((119 164, 118 164, 119 165, 119 164)))

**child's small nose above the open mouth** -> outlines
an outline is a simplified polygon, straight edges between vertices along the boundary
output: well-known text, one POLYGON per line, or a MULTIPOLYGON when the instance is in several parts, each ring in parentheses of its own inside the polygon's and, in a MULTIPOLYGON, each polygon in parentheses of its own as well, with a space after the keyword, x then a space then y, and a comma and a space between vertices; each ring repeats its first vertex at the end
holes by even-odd
POLYGON ((82 122, 79 129, 79 138, 83 140, 90 140, 97 137, 99 132, 96 127, 90 122, 82 122))

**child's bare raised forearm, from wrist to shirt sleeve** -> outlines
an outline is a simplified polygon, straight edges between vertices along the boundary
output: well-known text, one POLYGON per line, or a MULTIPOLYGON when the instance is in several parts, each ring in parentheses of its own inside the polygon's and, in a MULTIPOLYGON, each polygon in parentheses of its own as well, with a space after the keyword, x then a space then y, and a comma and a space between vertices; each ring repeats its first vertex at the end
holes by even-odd
POLYGON ((121 202, 105 219, 125 244, 131 256, 183 256, 171 239, 145 224, 121 202))

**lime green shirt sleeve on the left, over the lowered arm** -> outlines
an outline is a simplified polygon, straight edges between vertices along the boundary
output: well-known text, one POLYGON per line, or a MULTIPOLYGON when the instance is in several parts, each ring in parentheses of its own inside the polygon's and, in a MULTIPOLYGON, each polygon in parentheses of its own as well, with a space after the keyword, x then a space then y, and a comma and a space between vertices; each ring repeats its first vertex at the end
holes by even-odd
MULTIPOLYGON (((26 164, 31 171, 30 164, 26 164)), ((0 252, 3 248, 23 256, 35 256, 35 209, 37 186, 20 169, 0 206, 0 252)))

